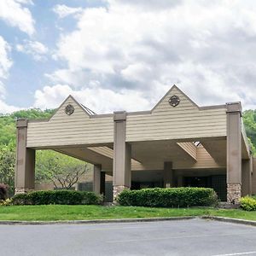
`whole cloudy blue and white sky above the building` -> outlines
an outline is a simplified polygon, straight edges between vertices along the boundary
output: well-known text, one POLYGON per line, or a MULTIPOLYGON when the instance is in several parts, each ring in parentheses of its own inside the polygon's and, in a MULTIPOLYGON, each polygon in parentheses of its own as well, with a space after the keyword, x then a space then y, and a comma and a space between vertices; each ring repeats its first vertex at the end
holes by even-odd
POLYGON ((0 113, 147 110, 177 84, 256 108, 254 0, 1 0, 0 113))

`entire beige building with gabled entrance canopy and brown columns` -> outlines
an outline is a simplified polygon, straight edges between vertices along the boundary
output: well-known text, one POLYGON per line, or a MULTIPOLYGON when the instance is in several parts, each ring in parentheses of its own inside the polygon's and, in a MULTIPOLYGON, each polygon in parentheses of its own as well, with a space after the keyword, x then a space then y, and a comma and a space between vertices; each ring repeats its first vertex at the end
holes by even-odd
POLYGON ((38 149, 93 164, 96 193, 112 176, 113 199, 145 187, 211 187, 230 203, 256 193, 241 103, 199 107, 176 85, 150 111, 96 114, 68 96, 50 119, 18 120, 16 193, 34 189, 38 149))

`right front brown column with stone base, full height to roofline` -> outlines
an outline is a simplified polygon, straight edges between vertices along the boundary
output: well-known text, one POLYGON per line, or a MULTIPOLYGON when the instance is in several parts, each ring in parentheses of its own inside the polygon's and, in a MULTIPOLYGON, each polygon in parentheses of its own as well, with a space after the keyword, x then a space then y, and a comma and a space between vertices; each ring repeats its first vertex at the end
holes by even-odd
POLYGON ((227 103, 227 201, 241 198, 241 103, 227 103))

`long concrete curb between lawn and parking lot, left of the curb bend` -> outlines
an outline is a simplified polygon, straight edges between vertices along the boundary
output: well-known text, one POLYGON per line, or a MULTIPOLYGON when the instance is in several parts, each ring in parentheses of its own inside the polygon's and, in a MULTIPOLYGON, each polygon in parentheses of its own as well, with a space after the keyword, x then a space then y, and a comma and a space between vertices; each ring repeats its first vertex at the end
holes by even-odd
POLYGON ((56 221, 19 221, 2 220, 0 225, 47 225, 47 224, 104 224, 104 223, 132 223, 132 222, 153 222, 165 220, 183 220, 197 218, 194 216, 166 217, 166 218, 113 218, 113 219, 89 219, 89 220, 56 220, 56 221))

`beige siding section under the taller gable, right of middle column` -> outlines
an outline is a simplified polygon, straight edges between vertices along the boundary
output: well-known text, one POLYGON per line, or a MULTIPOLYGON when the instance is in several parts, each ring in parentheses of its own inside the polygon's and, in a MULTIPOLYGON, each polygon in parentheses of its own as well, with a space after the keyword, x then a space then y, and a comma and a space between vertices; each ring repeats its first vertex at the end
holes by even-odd
POLYGON ((127 142, 224 136, 225 108, 201 110, 175 87, 152 113, 127 116, 127 142), (172 95, 180 98, 180 103, 175 108, 168 102, 172 95))

